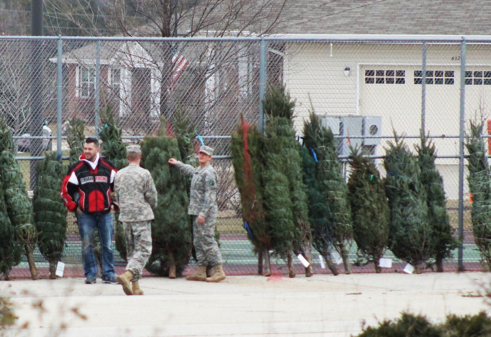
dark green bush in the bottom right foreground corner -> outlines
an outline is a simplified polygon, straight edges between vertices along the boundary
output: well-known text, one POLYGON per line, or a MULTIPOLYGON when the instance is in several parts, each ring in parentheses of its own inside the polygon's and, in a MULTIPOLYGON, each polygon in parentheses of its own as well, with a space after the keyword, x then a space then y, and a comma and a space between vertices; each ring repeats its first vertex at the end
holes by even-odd
POLYGON ((426 316, 403 312, 400 318, 367 327, 357 337, 487 337, 491 319, 486 312, 475 315, 447 315, 445 322, 432 324, 426 316))

